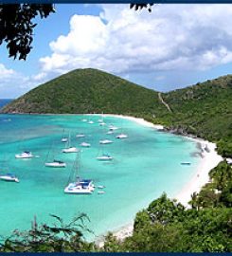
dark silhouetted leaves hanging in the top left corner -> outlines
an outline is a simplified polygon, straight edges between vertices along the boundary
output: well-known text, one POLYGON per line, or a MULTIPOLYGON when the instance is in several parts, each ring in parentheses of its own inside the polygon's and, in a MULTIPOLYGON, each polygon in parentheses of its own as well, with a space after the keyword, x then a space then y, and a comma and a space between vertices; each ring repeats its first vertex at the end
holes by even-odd
POLYGON ((46 18, 54 11, 52 4, 0 5, 0 45, 6 42, 9 57, 26 60, 36 27, 33 19, 46 18))

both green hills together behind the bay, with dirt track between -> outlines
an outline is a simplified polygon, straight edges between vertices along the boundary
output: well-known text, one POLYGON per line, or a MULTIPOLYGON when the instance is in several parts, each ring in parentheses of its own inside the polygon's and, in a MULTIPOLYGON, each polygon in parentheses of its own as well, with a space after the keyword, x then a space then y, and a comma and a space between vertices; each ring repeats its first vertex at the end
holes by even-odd
POLYGON ((232 155, 232 75, 160 93, 98 69, 76 69, 11 101, 2 113, 134 116, 216 142, 232 155))

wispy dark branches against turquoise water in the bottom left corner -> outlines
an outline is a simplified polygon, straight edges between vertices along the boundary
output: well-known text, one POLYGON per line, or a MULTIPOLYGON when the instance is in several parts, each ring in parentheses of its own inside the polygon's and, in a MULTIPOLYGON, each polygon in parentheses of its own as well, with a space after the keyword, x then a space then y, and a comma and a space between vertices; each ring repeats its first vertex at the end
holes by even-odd
POLYGON ((68 252, 80 250, 93 250, 94 245, 84 242, 82 231, 87 230, 85 214, 75 217, 69 224, 62 218, 51 215, 57 224, 38 226, 36 219, 27 231, 14 230, 12 235, 3 239, 0 252, 68 252))

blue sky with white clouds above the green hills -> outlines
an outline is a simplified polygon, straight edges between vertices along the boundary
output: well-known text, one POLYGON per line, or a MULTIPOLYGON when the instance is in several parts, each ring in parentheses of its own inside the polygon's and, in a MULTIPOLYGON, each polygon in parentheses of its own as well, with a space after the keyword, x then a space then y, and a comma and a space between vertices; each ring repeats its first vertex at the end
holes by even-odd
POLYGON ((56 4, 37 19, 27 61, 0 46, 0 99, 76 68, 98 68, 167 92, 232 73, 232 5, 56 4))

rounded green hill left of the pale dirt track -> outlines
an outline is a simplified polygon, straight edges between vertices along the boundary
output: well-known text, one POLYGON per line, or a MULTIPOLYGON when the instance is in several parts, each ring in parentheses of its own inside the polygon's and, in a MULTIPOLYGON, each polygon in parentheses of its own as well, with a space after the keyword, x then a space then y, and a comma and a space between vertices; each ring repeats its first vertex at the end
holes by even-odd
POLYGON ((145 114, 166 108, 157 92, 97 69, 77 69, 29 91, 3 113, 145 114))

